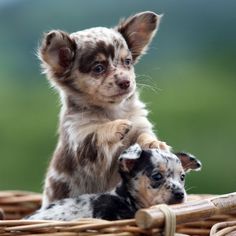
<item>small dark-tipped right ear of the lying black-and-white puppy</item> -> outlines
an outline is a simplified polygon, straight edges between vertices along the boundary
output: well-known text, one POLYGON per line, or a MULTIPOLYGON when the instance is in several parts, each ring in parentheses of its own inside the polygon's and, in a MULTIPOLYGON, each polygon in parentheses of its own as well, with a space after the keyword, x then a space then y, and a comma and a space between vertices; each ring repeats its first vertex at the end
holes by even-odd
POLYGON ((178 152, 175 153, 175 155, 180 159, 185 172, 189 172, 190 170, 200 170, 202 167, 201 162, 192 154, 178 152))

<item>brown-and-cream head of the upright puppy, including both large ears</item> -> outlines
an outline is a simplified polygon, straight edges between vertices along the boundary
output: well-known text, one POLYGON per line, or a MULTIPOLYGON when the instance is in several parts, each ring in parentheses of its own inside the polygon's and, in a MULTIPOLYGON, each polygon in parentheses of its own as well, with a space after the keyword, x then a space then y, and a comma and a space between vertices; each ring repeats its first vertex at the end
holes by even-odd
POLYGON ((160 16, 142 12, 115 28, 45 34, 39 58, 51 83, 95 105, 120 103, 136 87, 134 64, 146 51, 160 16))

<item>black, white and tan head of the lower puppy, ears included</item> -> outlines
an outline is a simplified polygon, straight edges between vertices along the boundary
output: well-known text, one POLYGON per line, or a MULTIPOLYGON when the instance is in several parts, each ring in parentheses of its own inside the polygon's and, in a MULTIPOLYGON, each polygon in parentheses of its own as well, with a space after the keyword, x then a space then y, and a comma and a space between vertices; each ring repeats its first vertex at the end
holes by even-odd
POLYGON ((138 144, 123 152, 119 160, 121 177, 141 207, 184 202, 185 173, 201 168, 200 161, 190 154, 141 150, 138 144))

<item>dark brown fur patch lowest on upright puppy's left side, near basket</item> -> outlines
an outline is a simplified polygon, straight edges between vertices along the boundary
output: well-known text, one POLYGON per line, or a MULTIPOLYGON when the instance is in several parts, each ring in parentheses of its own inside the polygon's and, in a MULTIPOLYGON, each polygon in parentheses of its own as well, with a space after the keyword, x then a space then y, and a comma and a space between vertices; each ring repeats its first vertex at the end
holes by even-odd
POLYGON ((49 178, 52 195, 50 196, 52 201, 69 197, 70 187, 66 182, 55 180, 52 177, 49 178))

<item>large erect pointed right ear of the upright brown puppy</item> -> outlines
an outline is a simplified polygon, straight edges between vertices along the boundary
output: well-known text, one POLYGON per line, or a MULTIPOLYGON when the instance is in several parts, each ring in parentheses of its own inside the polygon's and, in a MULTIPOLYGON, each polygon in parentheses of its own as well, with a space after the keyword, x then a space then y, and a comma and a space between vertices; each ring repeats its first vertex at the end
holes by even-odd
POLYGON ((127 42, 134 62, 137 62, 138 58, 147 50, 159 26, 160 19, 161 16, 146 11, 122 20, 117 26, 116 29, 127 42))

